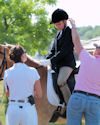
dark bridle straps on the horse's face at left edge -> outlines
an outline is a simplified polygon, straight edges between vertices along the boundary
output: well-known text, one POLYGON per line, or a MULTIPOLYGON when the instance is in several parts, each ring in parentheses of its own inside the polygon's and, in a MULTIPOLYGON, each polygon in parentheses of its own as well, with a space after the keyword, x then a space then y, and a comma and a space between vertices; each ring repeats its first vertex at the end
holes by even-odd
POLYGON ((4 67, 6 66, 6 69, 7 69, 7 60, 6 60, 5 48, 4 48, 4 52, 0 51, 0 55, 3 55, 3 60, 2 60, 2 63, 0 65, 0 81, 1 81, 1 80, 3 80, 2 74, 3 74, 3 71, 4 71, 4 67))

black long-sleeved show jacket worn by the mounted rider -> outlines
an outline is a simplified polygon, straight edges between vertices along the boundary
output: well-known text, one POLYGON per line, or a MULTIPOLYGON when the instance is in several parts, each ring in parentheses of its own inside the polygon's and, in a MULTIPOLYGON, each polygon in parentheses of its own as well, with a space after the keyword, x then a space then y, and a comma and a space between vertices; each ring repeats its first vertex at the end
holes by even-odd
POLYGON ((73 48, 71 29, 67 26, 63 29, 60 37, 59 32, 57 33, 51 52, 47 56, 47 59, 51 60, 52 69, 59 71, 59 68, 63 66, 74 69, 76 63, 73 48))

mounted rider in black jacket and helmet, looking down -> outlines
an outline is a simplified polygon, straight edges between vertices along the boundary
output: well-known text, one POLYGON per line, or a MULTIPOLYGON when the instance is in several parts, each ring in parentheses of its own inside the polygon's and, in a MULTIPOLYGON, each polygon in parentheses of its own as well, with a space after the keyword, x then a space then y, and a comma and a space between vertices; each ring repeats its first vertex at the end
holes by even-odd
POLYGON ((60 87, 66 104, 69 99, 66 81, 76 65, 71 29, 67 26, 67 19, 68 14, 64 10, 57 9, 53 12, 50 24, 54 24, 58 32, 51 52, 47 56, 47 62, 51 62, 52 69, 58 73, 57 84, 60 87))

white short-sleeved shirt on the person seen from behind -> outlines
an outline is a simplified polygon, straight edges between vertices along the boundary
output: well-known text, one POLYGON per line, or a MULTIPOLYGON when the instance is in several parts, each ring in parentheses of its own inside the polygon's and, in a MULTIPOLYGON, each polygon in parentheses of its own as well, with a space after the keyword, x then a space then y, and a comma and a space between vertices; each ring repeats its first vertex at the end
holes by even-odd
POLYGON ((24 63, 15 63, 4 74, 4 86, 9 87, 9 100, 22 100, 34 96, 34 84, 40 76, 35 68, 24 63))

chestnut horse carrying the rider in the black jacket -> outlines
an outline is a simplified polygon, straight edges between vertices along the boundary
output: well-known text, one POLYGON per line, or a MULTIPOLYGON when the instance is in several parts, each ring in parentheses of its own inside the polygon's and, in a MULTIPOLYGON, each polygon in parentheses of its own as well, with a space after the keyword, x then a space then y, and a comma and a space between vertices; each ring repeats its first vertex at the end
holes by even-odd
MULTIPOLYGON (((13 65, 13 61, 9 58, 9 50, 14 45, 0 45, 0 78, 3 78, 6 68, 10 68, 13 65)), ((56 110, 56 106, 51 105, 47 99, 47 67, 42 66, 41 63, 33 60, 30 56, 27 56, 26 64, 34 67, 38 70, 40 75, 41 87, 43 91, 43 97, 41 100, 35 98, 35 104, 38 114, 39 125, 48 125, 53 112, 56 110)), ((57 123, 65 123, 66 119, 59 118, 57 123)))

